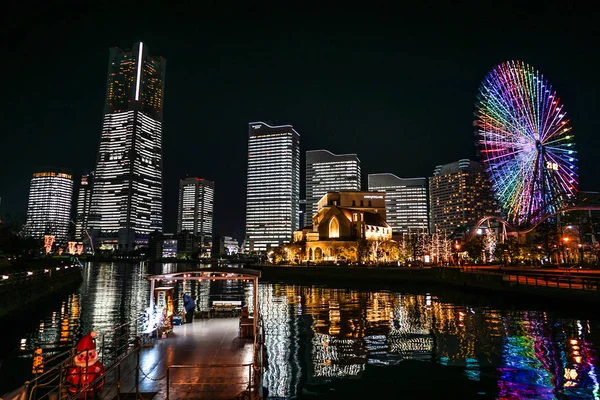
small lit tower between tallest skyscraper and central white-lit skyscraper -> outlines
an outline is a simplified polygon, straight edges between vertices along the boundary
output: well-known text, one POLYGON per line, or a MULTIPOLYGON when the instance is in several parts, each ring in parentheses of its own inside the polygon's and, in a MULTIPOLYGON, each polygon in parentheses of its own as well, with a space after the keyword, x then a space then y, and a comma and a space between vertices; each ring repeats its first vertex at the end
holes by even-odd
POLYGON ((212 238, 214 197, 213 181, 202 178, 181 179, 177 232, 187 231, 202 238, 212 238))

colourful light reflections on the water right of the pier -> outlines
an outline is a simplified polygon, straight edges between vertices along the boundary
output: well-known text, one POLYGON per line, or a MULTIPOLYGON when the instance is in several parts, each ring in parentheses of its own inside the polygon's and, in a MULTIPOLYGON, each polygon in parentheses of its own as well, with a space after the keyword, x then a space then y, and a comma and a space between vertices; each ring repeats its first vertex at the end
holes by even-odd
POLYGON ((467 380, 495 381, 484 388, 500 398, 599 398, 598 321, 474 308, 430 294, 260 289, 272 396, 298 395, 304 381, 326 384, 421 360, 459 367, 467 380))

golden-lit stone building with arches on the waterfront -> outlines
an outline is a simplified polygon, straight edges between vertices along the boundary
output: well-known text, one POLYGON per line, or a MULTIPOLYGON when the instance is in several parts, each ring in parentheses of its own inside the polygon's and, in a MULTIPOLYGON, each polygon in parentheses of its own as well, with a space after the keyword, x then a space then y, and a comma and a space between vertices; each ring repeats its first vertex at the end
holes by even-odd
POLYGON ((392 238, 382 192, 329 192, 312 221, 312 227, 294 233, 295 241, 306 242, 304 261, 358 261, 361 239, 392 238))

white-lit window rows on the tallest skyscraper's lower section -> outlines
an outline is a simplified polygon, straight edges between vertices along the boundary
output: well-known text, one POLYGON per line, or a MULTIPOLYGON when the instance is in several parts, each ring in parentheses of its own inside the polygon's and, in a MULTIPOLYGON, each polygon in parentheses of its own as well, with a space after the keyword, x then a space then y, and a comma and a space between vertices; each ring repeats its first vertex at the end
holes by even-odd
POLYGON ((90 227, 103 234, 162 230, 159 121, 133 110, 105 115, 90 214, 96 216, 90 227))

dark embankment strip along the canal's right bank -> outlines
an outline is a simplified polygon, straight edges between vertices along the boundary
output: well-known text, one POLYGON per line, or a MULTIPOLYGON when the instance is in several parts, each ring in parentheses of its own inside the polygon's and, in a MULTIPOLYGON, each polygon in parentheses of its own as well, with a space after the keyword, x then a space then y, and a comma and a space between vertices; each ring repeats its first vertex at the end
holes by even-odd
POLYGON ((263 279, 277 281, 360 282, 372 285, 446 286, 488 296, 513 294, 554 300, 600 302, 600 271, 519 267, 253 266, 263 279))

